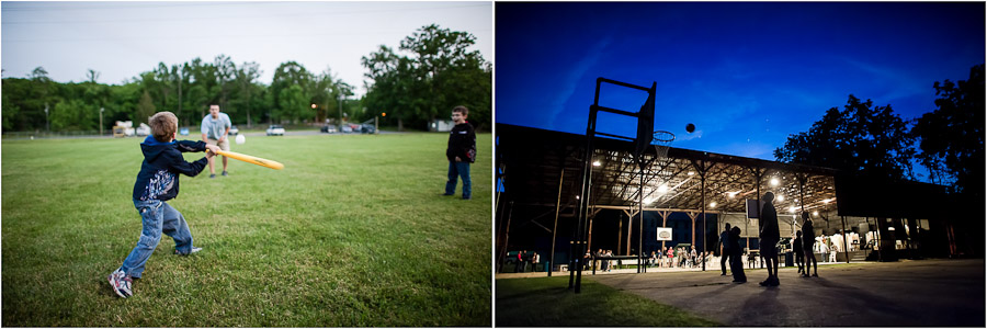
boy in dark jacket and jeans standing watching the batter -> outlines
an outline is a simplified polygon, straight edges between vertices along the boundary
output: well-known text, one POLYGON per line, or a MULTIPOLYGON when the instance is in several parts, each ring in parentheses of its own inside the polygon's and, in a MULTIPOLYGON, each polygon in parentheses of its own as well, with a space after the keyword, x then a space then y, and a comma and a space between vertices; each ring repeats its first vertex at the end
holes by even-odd
POLYGON ((463 200, 469 200, 473 192, 473 182, 469 180, 469 163, 476 161, 476 134, 473 126, 466 122, 469 110, 466 106, 453 109, 453 123, 456 125, 449 132, 449 146, 445 157, 449 159, 449 180, 445 181, 445 194, 453 195, 456 192, 456 179, 463 179, 463 200))

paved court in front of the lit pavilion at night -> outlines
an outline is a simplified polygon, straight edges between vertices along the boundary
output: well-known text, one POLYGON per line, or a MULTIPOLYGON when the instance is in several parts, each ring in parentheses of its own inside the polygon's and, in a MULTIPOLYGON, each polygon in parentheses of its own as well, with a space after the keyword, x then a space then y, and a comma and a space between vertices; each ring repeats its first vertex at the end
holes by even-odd
POLYGON ((778 287, 758 285, 765 270, 747 270, 749 282, 735 284, 718 266, 591 277, 730 327, 985 326, 984 260, 852 263, 809 279, 780 272, 778 287))

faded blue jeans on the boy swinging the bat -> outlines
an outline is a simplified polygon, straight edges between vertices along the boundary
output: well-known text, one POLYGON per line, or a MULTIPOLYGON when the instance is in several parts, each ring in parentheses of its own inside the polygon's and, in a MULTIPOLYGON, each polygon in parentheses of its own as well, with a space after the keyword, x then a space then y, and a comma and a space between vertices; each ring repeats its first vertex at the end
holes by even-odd
POLYGON ((192 231, 189 230, 189 224, 185 223, 182 213, 160 200, 135 200, 134 206, 140 213, 144 229, 140 231, 137 247, 134 247, 120 266, 124 273, 140 277, 144 264, 161 241, 162 232, 174 239, 174 249, 179 253, 188 254, 192 251, 192 231))

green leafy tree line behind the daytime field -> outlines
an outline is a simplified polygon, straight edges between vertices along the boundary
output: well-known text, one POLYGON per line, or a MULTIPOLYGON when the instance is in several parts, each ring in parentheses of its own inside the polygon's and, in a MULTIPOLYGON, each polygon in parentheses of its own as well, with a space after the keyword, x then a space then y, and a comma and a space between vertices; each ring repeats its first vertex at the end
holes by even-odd
POLYGON ((401 41, 400 49, 410 57, 382 45, 362 59, 372 81, 364 82, 367 93, 360 99, 349 99, 354 86, 331 69, 314 72, 296 61, 279 65, 270 84, 259 81, 260 65, 238 65, 226 55, 212 61, 159 63, 121 84, 97 82, 100 72, 92 69, 87 81, 56 82, 38 67, 27 78, 2 79, 2 128, 99 131, 101 111, 106 131, 115 121, 147 122, 158 111, 174 112, 180 125, 195 126, 209 104, 218 104, 239 125, 362 122, 382 115, 383 125, 400 129, 426 129, 434 120, 449 120, 452 107, 466 105, 474 126, 488 128, 492 70, 479 52, 466 50, 475 41, 469 33, 432 24, 401 41))

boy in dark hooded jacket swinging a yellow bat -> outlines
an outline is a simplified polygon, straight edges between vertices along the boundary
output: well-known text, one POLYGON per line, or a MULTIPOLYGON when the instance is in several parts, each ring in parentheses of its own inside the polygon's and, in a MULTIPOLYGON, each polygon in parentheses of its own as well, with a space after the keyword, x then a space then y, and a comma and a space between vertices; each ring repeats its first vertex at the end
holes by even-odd
POLYGON ((174 239, 174 253, 188 256, 202 248, 192 245, 192 231, 185 217, 167 201, 179 194, 179 174, 195 177, 205 168, 219 148, 202 141, 174 140, 178 131, 178 117, 171 112, 158 112, 148 120, 151 135, 140 144, 144 161, 134 182, 134 207, 140 213, 141 231, 137 246, 124 259, 123 264, 110 273, 106 279, 110 287, 117 296, 127 298, 134 295, 134 279, 139 279, 144 266, 158 243, 161 234, 174 239), (182 152, 201 152, 206 149, 205 157, 194 162, 186 162, 182 152))

